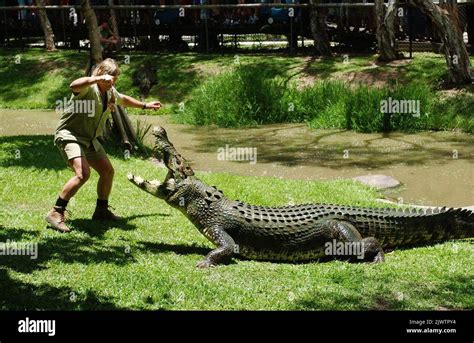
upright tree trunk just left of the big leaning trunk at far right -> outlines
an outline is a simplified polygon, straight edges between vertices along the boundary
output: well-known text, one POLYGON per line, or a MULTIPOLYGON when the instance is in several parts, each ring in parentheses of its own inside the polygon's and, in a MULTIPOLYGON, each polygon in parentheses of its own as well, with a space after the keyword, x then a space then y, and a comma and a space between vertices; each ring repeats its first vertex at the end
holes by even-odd
POLYGON ((395 38, 396 13, 397 0, 388 0, 387 8, 385 8, 384 0, 375 0, 379 61, 393 61, 400 57, 395 38))

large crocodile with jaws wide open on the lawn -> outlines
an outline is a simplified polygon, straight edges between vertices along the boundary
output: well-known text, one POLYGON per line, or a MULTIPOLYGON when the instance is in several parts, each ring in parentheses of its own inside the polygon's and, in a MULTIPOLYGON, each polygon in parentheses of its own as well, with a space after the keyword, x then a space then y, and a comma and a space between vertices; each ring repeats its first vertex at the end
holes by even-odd
POLYGON ((156 127, 155 152, 168 173, 163 182, 128 179, 180 210, 216 248, 197 267, 233 256, 305 262, 325 258, 383 262, 384 251, 474 237, 474 212, 463 208, 363 208, 335 204, 266 207, 231 200, 196 177, 189 162, 156 127))

